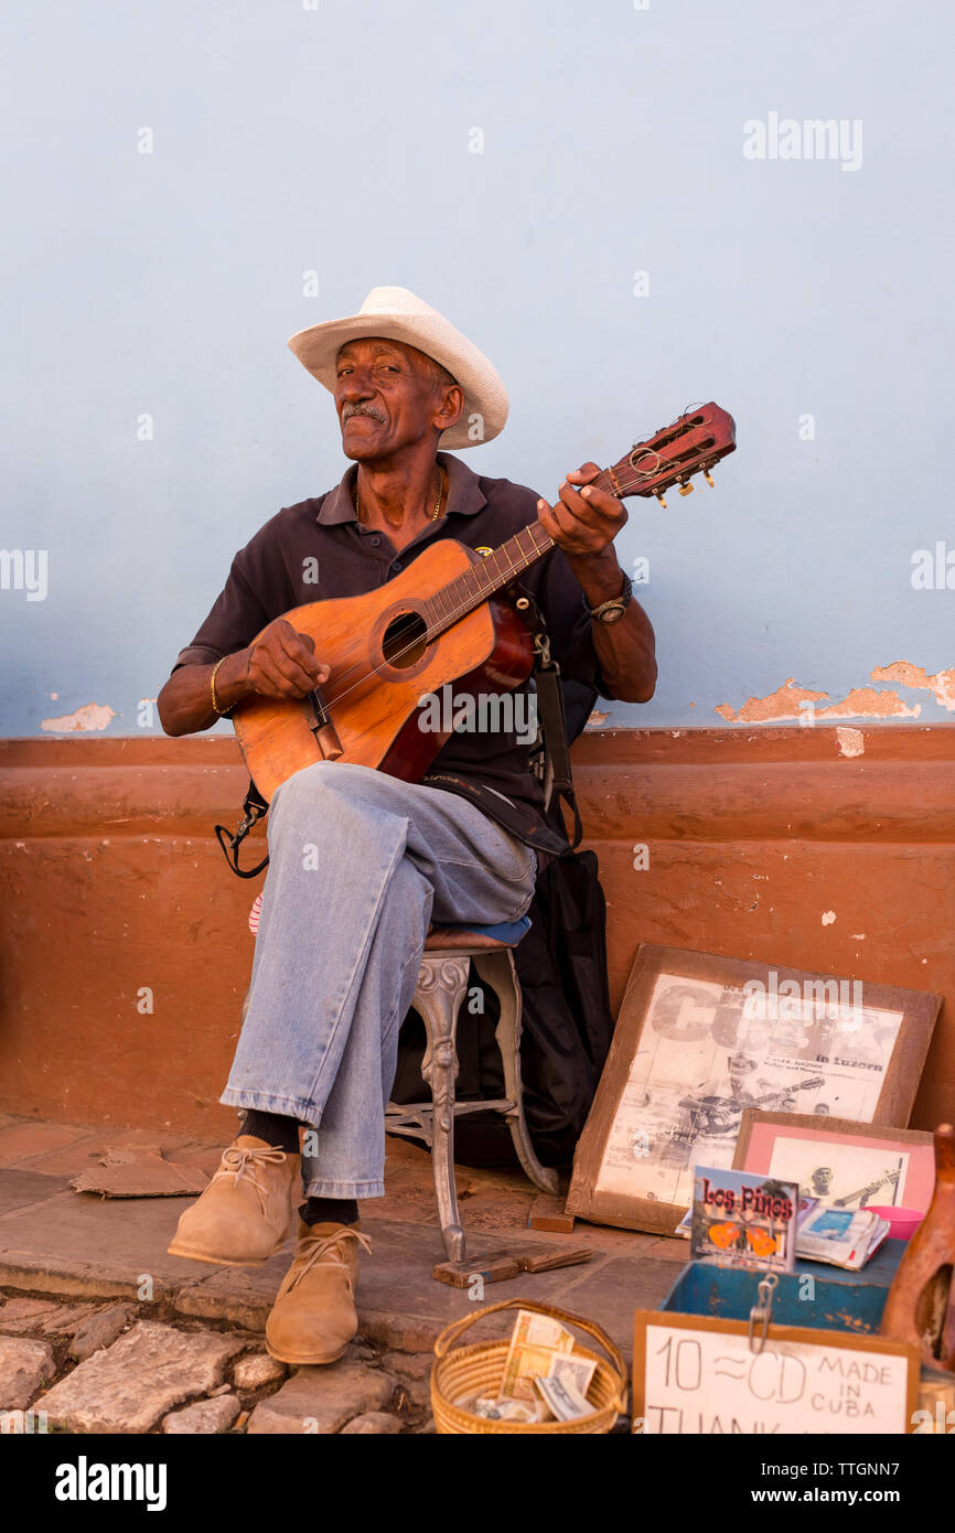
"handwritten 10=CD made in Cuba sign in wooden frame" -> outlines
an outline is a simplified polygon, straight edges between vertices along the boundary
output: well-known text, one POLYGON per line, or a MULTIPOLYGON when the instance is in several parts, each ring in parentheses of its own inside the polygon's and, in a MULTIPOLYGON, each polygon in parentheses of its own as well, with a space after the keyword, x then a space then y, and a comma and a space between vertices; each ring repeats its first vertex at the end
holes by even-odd
POLYGON ((884 1337, 770 1326, 756 1352, 748 1331, 742 1320, 638 1309, 633 1413, 642 1430, 840 1436, 912 1430, 914 1348, 884 1337))

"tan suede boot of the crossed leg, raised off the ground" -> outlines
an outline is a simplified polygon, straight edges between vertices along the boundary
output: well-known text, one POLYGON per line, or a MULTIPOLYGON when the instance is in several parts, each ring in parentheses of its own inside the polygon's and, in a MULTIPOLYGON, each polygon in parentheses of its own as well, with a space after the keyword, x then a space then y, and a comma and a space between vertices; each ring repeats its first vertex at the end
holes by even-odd
POLYGON ((179 1219, 169 1254, 222 1266, 261 1266, 291 1234, 291 1190, 300 1162, 299 1154, 239 1134, 222 1151, 205 1191, 179 1219))

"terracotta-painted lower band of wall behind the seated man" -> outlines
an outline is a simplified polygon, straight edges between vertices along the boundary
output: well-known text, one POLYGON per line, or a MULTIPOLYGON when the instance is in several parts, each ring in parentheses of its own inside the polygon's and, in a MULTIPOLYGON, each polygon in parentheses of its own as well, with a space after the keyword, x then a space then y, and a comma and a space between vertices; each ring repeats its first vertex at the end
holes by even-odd
MULTIPOLYGON (((612 993, 639 941, 938 990, 932 1128, 955 1102, 955 725, 861 734, 852 757, 822 727, 584 736, 612 993)), ((245 791, 235 740, 6 740, 0 779, 0 1110, 230 1137, 262 886, 212 835, 245 791)))

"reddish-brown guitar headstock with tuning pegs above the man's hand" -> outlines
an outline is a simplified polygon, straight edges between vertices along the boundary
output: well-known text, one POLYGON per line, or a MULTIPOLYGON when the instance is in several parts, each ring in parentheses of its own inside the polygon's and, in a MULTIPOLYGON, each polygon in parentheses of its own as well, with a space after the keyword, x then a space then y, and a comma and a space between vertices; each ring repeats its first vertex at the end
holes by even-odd
POLYGON ((645 442, 638 442, 619 463, 604 469, 595 483, 618 500, 625 500, 627 495, 656 495, 665 509, 664 491, 679 484, 681 495, 690 495, 693 474, 702 474, 713 489, 710 469, 734 449, 733 415, 710 402, 687 411, 645 442))

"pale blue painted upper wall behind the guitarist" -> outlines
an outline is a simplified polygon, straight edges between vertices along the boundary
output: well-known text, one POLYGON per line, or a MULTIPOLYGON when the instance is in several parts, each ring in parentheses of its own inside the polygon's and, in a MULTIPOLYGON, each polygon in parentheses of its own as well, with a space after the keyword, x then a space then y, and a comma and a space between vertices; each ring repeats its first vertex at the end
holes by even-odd
POLYGON ((736 415, 716 492, 630 501, 661 682, 612 721, 719 725, 788 676, 835 701, 875 665, 955 667, 955 590, 911 581, 914 550, 955 550, 949 17, 6 0, 0 541, 49 573, 43 601, 0 590, 0 733, 89 702, 136 733, 233 552, 340 477, 284 342, 376 284, 500 368, 483 472, 552 494, 693 400, 736 415), (861 120, 861 167, 745 158, 770 112, 861 120))

